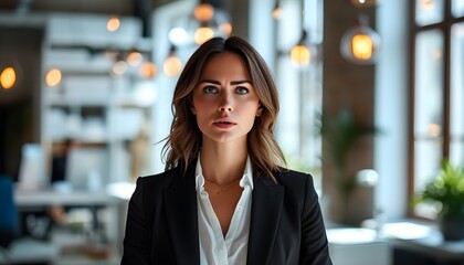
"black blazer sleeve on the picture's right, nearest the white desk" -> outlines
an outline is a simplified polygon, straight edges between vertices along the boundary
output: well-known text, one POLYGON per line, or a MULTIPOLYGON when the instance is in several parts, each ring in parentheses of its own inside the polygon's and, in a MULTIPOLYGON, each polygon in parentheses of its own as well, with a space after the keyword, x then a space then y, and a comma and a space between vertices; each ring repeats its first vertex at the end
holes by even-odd
POLYGON ((307 174, 305 186, 299 264, 331 265, 323 214, 310 174, 307 174))

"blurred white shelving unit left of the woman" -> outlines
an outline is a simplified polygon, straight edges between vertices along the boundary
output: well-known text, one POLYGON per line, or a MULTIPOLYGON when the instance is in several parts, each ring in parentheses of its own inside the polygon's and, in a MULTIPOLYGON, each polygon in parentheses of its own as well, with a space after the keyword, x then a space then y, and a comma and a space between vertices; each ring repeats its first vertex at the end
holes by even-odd
MULTIPOLYGON (((130 181, 136 148, 133 144, 145 140, 150 145, 146 128, 151 121, 154 82, 139 76, 139 66, 119 64, 124 74, 115 74, 114 67, 134 50, 144 60, 151 61, 152 43, 143 38, 139 19, 119 18, 120 25, 115 32, 107 31, 108 19, 109 15, 51 14, 45 26, 42 144, 49 151, 63 141, 71 141, 76 147, 71 152, 80 149, 75 156, 70 153, 67 161, 68 168, 80 168, 80 176, 76 170, 66 172, 66 180, 71 184, 78 183, 76 188, 80 189, 130 181), (62 73, 62 81, 56 86, 46 85, 45 76, 52 68, 62 73), (91 149, 99 150, 103 157, 96 158, 91 149), (77 165, 72 166, 73 162, 77 165), (98 181, 92 182, 88 178, 98 181), (82 183, 88 186, 82 187, 82 183)), ((143 174, 150 169, 146 166, 138 171, 143 174)), ((50 170, 45 173, 50 174, 50 170)))

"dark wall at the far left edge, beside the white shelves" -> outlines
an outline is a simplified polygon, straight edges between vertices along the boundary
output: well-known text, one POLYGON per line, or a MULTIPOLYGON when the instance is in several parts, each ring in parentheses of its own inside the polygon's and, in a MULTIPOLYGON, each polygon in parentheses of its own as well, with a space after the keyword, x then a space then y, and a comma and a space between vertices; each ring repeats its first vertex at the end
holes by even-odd
POLYGON ((18 178, 21 148, 40 141, 40 68, 42 29, 0 28, 1 70, 13 63, 18 82, 0 88, 0 174, 18 178))

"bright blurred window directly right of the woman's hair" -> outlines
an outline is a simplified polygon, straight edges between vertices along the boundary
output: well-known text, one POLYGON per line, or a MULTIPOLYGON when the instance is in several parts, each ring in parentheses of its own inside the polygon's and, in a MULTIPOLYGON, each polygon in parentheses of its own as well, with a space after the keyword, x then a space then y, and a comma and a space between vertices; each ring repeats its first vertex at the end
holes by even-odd
POLYGON ((321 138, 318 117, 323 106, 323 63, 312 55, 309 65, 293 65, 289 51, 307 31, 308 42, 323 40, 323 0, 281 0, 282 17, 276 21, 275 77, 281 99, 276 136, 288 167, 310 172, 316 189, 321 189, 321 138), (304 12, 302 12, 302 6, 304 12), (288 30, 292 29, 292 30, 288 30))

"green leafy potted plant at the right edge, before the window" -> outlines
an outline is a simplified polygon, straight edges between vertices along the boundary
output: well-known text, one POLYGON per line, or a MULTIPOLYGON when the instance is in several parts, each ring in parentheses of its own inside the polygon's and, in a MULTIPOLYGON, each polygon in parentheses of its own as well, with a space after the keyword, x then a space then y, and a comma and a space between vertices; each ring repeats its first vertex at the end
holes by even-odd
POLYGON ((425 186, 419 202, 439 205, 439 224, 446 241, 464 239, 464 169, 445 159, 440 173, 425 186))

